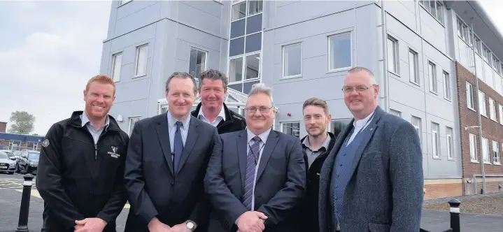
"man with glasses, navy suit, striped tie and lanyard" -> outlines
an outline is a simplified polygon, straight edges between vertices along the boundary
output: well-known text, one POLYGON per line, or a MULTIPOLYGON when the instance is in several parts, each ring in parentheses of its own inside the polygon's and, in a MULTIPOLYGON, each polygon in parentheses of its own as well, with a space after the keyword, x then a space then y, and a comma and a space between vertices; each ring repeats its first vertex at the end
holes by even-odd
POLYGON ((274 131, 271 89, 254 85, 245 131, 220 135, 204 187, 213 206, 208 231, 297 231, 306 166, 299 138, 274 131))

